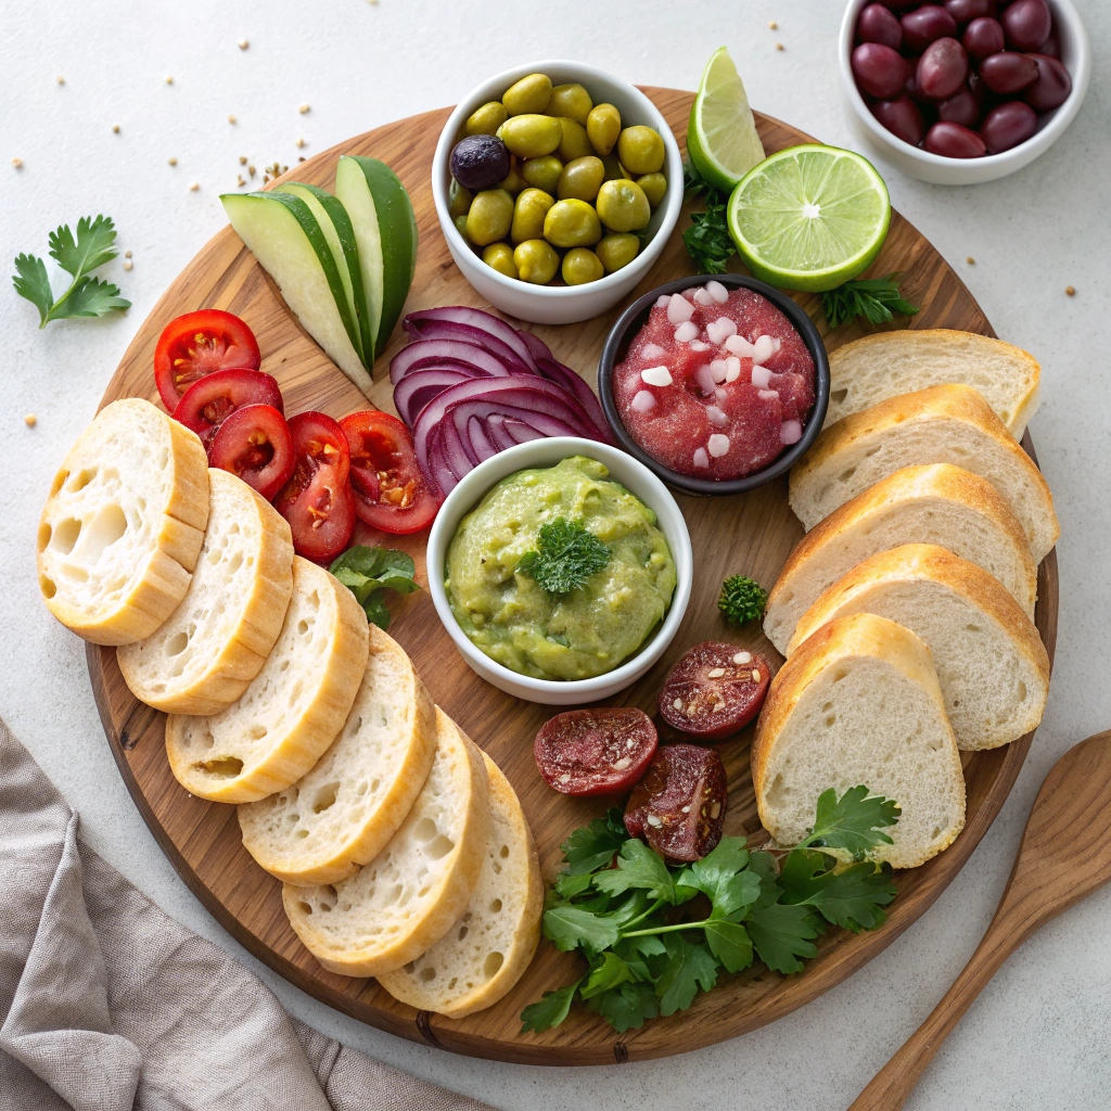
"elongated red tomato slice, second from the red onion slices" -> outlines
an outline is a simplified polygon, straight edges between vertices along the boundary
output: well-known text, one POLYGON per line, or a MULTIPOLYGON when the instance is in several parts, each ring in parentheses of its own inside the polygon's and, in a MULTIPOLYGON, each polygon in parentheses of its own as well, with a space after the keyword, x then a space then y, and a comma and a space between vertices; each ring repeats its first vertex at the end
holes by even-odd
POLYGON ((274 509, 289 521, 298 556, 323 563, 336 559, 354 532, 347 439, 331 417, 312 410, 290 418, 289 434, 293 473, 274 509))

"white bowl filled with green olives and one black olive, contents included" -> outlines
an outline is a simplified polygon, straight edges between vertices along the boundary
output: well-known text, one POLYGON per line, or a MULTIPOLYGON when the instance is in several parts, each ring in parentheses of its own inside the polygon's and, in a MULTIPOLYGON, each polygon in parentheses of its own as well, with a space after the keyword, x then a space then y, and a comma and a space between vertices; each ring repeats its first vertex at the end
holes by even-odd
POLYGON ((432 196, 463 277, 521 320, 588 320, 630 293, 679 219, 679 144, 639 89, 581 62, 490 78, 451 113, 432 196))

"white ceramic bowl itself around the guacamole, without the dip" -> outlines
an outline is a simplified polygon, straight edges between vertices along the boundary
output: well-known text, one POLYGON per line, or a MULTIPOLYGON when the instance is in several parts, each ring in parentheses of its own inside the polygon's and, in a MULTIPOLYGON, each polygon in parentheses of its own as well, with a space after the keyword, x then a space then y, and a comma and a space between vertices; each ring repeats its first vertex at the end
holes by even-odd
POLYGON ((516 448, 509 448, 479 463, 448 494, 428 538, 429 590, 432 593, 436 611, 463 659, 473 671, 494 687, 529 702, 544 702, 549 705, 595 702, 617 694, 640 679, 659 660, 675 635, 675 630, 687 611, 687 603, 690 601, 693 565, 687 522, 668 488, 632 456, 609 444, 598 443, 594 440, 580 440, 572 436, 519 443, 516 448), (532 679, 491 660, 467 639, 451 612, 448 594, 443 589, 444 562, 459 522, 482 500, 491 487, 517 471, 530 467, 554 467, 569 456, 587 456, 604 463, 609 468, 611 478, 631 490, 645 506, 655 511, 658 523, 668 539, 671 557, 675 561, 675 592, 671 599, 671 608, 655 635, 612 671, 608 671, 604 675, 595 675, 593 679, 568 681, 532 679))

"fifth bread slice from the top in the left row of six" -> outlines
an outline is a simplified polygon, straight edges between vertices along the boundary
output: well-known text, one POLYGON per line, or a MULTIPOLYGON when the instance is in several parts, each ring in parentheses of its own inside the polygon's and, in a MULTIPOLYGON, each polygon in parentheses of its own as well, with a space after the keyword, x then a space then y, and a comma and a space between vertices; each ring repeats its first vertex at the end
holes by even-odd
POLYGON ((434 945, 467 910, 490 833, 482 752, 437 708, 432 770, 409 817, 366 868, 282 887, 290 924, 330 972, 379 975, 434 945))

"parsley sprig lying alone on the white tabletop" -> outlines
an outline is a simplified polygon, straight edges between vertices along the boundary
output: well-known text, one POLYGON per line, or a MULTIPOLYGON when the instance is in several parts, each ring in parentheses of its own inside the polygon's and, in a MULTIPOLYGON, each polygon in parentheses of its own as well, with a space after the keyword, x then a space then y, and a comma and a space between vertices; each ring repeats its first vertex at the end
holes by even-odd
POLYGON ((34 254, 16 257, 17 272, 11 279, 16 292, 39 310, 39 328, 46 328, 51 320, 103 317, 131 307, 130 301, 120 297, 119 287, 90 277, 91 271, 111 262, 117 254, 116 227, 109 217, 81 217, 76 237, 69 224, 62 224, 50 233, 49 242, 50 257, 73 277, 58 300, 50 288, 47 264, 34 254))

